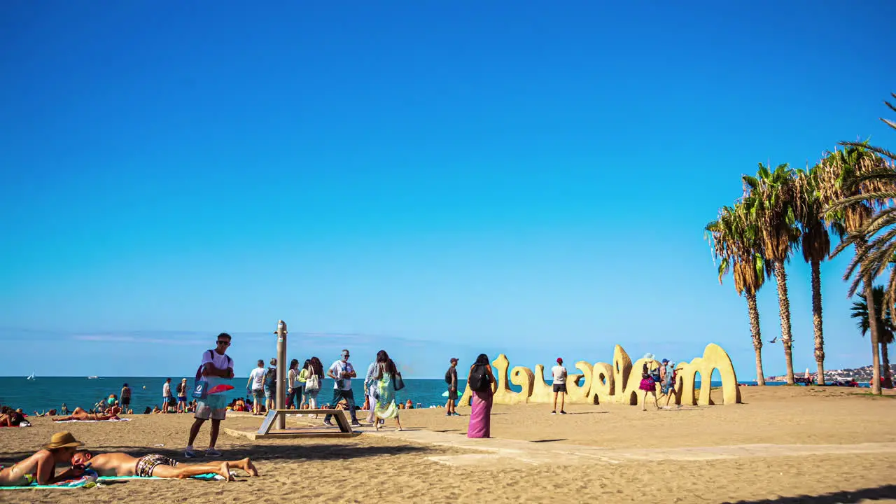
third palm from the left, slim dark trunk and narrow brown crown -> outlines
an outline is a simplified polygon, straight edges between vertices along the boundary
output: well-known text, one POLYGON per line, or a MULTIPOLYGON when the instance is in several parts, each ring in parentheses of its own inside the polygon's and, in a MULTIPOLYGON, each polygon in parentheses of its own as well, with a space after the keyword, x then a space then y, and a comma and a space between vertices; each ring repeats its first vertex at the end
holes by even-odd
POLYGON ((812 323, 815 330, 815 364, 818 385, 824 385, 824 334, 822 327, 821 262, 831 253, 831 237, 822 220, 823 204, 818 194, 818 167, 797 170, 797 222, 802 230, 803 259, 812 266, 812 323))

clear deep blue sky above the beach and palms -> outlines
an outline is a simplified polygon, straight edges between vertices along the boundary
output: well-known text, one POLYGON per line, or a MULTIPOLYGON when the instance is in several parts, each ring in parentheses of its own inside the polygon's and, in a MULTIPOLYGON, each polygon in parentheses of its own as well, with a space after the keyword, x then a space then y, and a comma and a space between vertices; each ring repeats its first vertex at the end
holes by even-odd
MULTIPOLYGON (((0 4, 0 374, 674 361, 746 304, 702 228, 759 161, 893 144, 896 3, 0 4)), ((865 365, 847 258, 827 365, 865 365)), ((797 370, 808 268, 788 266, 797 370)), ((780 334, 775 285, 764 339, 780 334)), ((784 371, 767 345, 767 374, 784 371)))

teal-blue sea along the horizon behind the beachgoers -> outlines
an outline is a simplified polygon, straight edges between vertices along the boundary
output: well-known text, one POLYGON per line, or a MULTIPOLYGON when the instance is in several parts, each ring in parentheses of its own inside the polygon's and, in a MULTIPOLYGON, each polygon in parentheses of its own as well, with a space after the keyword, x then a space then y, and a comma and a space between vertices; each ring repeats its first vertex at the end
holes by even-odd
MULTIPOLYGON (((180 379, 185 377, 171 377, 171 388, 174 389, 180 379)), ((235 388, 227 392, 228 402, 240 395, 246 397, 246 378, 233 378, 231 385, 235 388)), ((75 406, 81 406, 90 410, 94 404, 108 398, 109 394, 120 395, 124 384, 131 387, 131 408, 134 413, 143 413, 147 407, 162 402, 162 385, 164 377, 0 377, 0 404, 13 408, 22 408, 27 414, 35 411, 44 412, 50 408, 60 409, 65 403, 69 410, 75 406)), ((193 384, 193 378, 188 377, 187 383, 193 384)), ((445 404, 447 399, 443 396, 446 390, 444 379, 414 379, 405 378, 405 387, 396 393, 396 397, 402 403, 408 399, 416 407, 428 408, 437 404, 445 404)), ((549 383, 549 382, 548 382, 549 383)), ((699 383, 697 385, 699 387, 699 383)), ((741 382, 745 385, 755 385, 756 382, 741 382)), ((355 400, 364 404, 364 380, 351 380, 355 400)), ((769 385, 782 385, 769 383, 769 385)), ((460 380, 458 386, 461 391, 466 387, 466 381, 460 380)), ((712 382, 713 387, 721 386, 721 383, 712 382)), ((326 378, 321 385, 321 393, 318 395, 318 403, 326 404, 332 399, 333 380, 326 378)), ((514 391, 520 391, 520 387, 511 385, 514 391)))

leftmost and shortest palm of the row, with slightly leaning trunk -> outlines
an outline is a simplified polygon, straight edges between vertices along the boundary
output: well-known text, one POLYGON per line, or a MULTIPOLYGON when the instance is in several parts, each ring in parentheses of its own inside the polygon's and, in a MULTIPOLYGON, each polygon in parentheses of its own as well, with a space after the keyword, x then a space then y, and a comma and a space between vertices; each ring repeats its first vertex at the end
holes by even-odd
POLYGON ((724 206, 719 219, 705 227, 705 238, 710 241, 714 258, 719 259, 719 283, 728 272, 734 273, 734 288, 738 295, 746 295, 746 309, 750 317, 750 334, 756 352, 756 384, 765 386, 762 371, 762 334, 759 328, 759 308, 756 291, 765 282, 766 270, 762 258, 762 242, 755 222, 749 218, 744 204, 734 208, 724 206))

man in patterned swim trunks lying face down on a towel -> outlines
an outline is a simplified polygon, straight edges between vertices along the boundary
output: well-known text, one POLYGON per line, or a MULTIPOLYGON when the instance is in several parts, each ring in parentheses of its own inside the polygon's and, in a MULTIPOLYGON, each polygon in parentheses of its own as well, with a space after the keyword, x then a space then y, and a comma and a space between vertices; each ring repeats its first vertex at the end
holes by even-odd
POLYGON ((220 474, 228 482, 234 481, 230 475, 230 468, 236 467, 249 474, 257 476, 258 471, 246 457, 242 460, 222 460, 214 464, 178 464, 176 460, 158 453, 136 458, 125 453, 98 453, 94 455, 90 450, 75 452, 72 456, 73 467, 85 467, 90 464, 100 476, 140 476, 149 478, 189 478, 200 474, 220 474))

